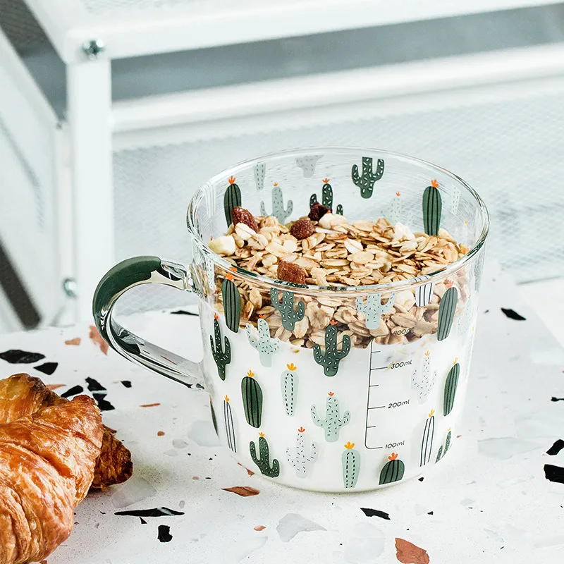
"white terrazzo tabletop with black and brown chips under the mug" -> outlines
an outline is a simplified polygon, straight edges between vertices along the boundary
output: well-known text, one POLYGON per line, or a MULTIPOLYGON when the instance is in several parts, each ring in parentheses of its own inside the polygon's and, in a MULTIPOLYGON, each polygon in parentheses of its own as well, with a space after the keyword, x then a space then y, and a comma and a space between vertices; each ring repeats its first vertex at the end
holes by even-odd
MULTIPOLYGON (((201 355, 195 316, 142 314, 132 323, 176 352, 201 355)), ((94 393, 106 393, 115 407, 104 411, 104 422, 133 453, 133 478, 87 497, 73 534, 49 564, 393 563, 396 538, 424 548, 432 564, 562 562, 564 484, 546 479, 544 465, 564 467, 564 450, 546 454, 564 438, 564 399, 551 400, 564 398, 564 351, 496 271, 484 276, 467 406, 452 452, 422 481, 373 493, 308 493, 247 474, 217 446, 205 392, 112 350, 105 355, 86 325, 0 336, 0 353, 8 349, 45 359, 0 360, 0 377, 30 372, 64 384, 59 393, 77 385, 89 393, 87 377, 102 384, 106 391, 94 393), (508 319, 501 307, 527 320, 508 319), (73 338, 80 345, 65 344, 73 338), (59 364, 45 375, 34 368, 44 362, 59 364), (152 403, 159 405, 140 407, 152 403), (260 493, 223 490, 233 486, 260 493), (145 517, 146 523, 115 515, 160 507, 183 515, 145 517), (159 525, 170 527, 169 535, 161 527, 168 541, 159 541, 159 525)))

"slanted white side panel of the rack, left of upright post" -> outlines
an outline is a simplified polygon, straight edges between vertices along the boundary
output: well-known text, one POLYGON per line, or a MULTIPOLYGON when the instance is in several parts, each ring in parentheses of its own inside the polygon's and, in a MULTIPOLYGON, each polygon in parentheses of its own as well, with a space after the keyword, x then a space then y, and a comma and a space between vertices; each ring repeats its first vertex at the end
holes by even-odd
MULTIPOLYGON (((28 224, 23 215, 20 228, 7 228, 0 224, 0 235, 11 262, 17 267, 27 293, 32 295, 35 307, 46 321, 56 313, 53 299, 54 288, 59 287, 60 262, 56 252, 56 222, 54 210, 56 200, 56 128, 57 118, 47 100, 39 91, 27 68, 0 30, 0 84, 11 85, 0 88, 0 117, 6 124, 6 133, 13 145, 4 149, 13 156, 11 173, 17 182, 30 187, 34 184, 44 188, 44 211, 47 219, 42 236, 37 240, 35 225, 28 224), (34 252, 30 254, 30 250, 34 252), (42 283, 30 288, 30 281, 42 283)), ((3 171, 4 174, 9 171, 3 171)), ((0 194, 4 210, 13 210, 13 192, 0 194)), ((13 210, 16 212, 16 210, 13 210)), ((18 218, 19 219, 19 218, 18 218)), ((6 300, 4 296, 3 300, 6 300)), ((4 309, 7 308, 4 307, 4 309)), ((13 313, 13 312, 12 312, 13 313)), ((9 314, 10 319, 13 315, 9 314)))

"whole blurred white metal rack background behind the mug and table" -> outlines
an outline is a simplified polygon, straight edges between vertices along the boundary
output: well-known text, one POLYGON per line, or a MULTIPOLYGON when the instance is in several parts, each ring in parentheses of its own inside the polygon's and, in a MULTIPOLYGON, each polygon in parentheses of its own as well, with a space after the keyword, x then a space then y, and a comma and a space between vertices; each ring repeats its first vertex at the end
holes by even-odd
POLYGON ((0 0, 0 332, 90 320, 118 260, 190 259, 207 178, 312 145, 467 180, 563 338, 564 3, 541 0, 0 0))

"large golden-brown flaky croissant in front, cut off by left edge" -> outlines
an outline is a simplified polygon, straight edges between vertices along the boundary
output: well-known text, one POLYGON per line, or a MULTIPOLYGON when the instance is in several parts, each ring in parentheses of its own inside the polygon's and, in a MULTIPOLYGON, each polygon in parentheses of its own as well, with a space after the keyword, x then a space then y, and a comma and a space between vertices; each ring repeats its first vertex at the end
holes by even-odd
POLYGON ((88 396, 0 424, 0 563, 42 560, 68 538, 103 434, 88 396))

